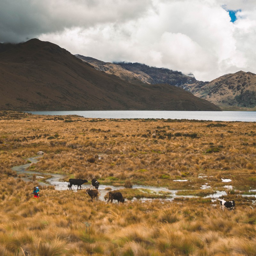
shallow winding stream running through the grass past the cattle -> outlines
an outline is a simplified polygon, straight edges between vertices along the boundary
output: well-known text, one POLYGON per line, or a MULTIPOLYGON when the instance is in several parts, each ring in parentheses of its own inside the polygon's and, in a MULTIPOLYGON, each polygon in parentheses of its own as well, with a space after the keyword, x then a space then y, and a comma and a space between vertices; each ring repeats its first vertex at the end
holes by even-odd
MULTIPOLYGON (((37 179, 43 178, 44 175, 51 175, 51 178, 46 180, 46 183, 44 182, 39 182, 39 185, 41 186, 49 186, 52 185, 55 187, 56 190, 67 190, 68 189, 68 182, 61 181, 66 175, 62 174, 55 174, 55 173, 43 173, 43 172, 34 172, 34 171, 28 171, 26 170, 31 164, 36 163, 42 156, 35 156, 35 157, 29 157, 26 160, 29 161, 27 164, 23 164, 20 166, 14 166, 12 167, 13 171, 16 171, 17 174, 24 174, 23 176, 21 175, 21 179, 25 181, 32 180, 33 175, 36 175, 37 179)), ((83 184, 82 187, 85 188, 90 188, 91 184, 83 184)), ((111 190, 117 190, 117 189, 122 189, 124 188, 123 186, 110 186, 110 185, 100 185, 99 187, 99 199, 102 201, 105 201, 104 196, 109 192, 109 189, 107 190, 106 188, 111 188, 111 190)), ((159 193, 161 194, 161 191, 168 192, 170 195, 167 198, 160 199, 157 198, 158 200, 162 201, 172 201, 175 197, 196 197, 198 198, 199 196, 178 196, 176 195, 178 190, 172 190, 168 188, 157 188, 157 187, 152 187, 152 186, 142 186, 142 185, 132 185, 132 188, 138 188, 138 189, 148 189, 152 191, 152 193, 159 193)), ((203 186, 202 189, 205 187, 203 186)), ((208 188, 208 187, 207 187, 208 188)), ((76 186, 73 187, 73 191, 77 192, 76 186)), ((225 196, 227 195, 226 191, 216 191, 216 193, 203 196, 202 198, 212 198, 212 202, 215 202, 220 196, 225 196)), ((154 198, 133 198, 132 201, 152 201, 154 198)))

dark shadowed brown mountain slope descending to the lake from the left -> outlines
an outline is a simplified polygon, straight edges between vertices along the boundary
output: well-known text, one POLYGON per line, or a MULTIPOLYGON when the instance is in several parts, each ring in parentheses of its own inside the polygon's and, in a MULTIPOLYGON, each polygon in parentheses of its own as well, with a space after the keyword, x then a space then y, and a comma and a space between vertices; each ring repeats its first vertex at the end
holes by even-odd
POLYGON ((168 84, 121 80, 50 42, 0 44, 1 110, 220 110, 168 84))

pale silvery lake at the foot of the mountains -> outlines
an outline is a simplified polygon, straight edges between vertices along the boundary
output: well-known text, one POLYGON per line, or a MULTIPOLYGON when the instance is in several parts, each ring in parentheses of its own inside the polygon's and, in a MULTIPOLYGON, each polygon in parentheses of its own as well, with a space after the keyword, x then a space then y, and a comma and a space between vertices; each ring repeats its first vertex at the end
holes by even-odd
POLYGON ((256 111, 25 111, 36 115, 78 115, 87 118, 164 118, 256 122, 256 111))

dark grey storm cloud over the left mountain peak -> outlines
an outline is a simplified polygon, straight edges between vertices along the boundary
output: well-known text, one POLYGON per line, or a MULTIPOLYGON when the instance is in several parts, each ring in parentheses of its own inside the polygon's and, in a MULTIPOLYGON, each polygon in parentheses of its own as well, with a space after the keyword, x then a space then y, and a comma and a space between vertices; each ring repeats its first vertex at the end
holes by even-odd
POLYGON ((66 28, 127 21, 143 15, 150 0, 1 0, 0 42, 23 42, 66 28))

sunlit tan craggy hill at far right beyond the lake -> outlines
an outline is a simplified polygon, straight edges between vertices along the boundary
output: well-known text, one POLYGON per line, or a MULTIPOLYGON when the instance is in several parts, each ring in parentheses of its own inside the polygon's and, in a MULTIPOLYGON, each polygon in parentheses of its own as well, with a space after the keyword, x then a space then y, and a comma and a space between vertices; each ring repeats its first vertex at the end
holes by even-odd
POLYGON ((205 83, 202 87, 194 87, 192 93, 221 108, 254 108, 256 106, 256 75, 244 71, 227 74, 205 83))

